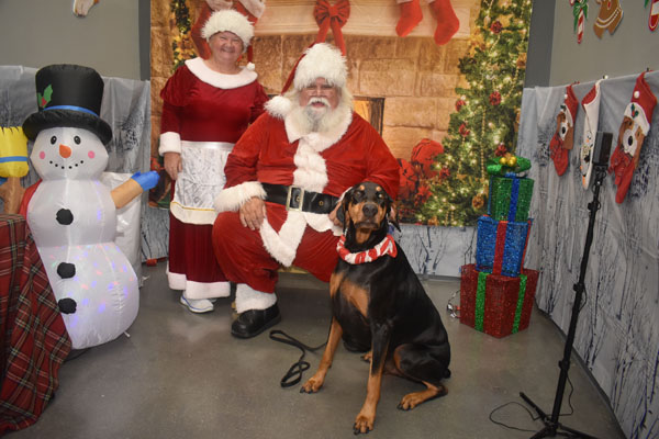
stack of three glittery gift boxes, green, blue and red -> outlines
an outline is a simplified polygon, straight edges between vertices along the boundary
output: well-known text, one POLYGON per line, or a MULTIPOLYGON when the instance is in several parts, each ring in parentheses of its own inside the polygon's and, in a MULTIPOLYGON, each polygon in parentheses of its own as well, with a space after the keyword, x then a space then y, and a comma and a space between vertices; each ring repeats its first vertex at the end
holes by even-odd
POLYGON ((538 272, 524 268, 532 219, 530 162, 506 154, 490 160, 488 215, 478 219, 476 263, 462 266, 460 322, 494 337, 526 329, 538 272))

